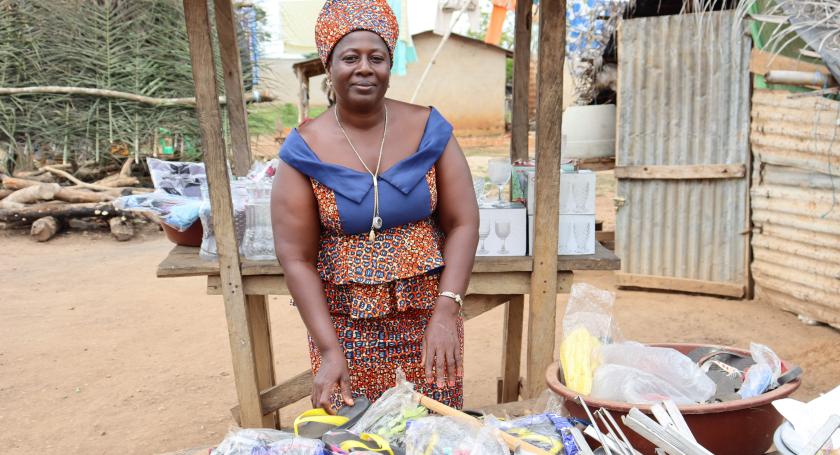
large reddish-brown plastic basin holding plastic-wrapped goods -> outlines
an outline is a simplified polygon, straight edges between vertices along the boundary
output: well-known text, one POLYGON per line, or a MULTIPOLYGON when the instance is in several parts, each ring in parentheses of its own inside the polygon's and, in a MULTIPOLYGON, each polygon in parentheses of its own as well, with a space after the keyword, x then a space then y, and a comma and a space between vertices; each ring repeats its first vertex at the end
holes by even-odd
MULTIPOLYGON (((674 348, 687 354, 701 347, 720 347, 705 344, 658 343, 651 346, 674 348)), ((749 356, 749 351, 731 347, 723 349, 749 356)), ((782 371, 787 371, 787 364, 782 361, 782 371)), ((574 417, 587 419, 586 412, 574 399, 579 393, 567 388, 562 382, 562 371, 559 363, 554 363, 546 370, 548 388, 565 399, 566 409, 574 417)), ((746 400, 735 400, 726 403, 698 404, 680 406, 680 412, 685 417, 688 427, 694 433, 697 442, 715 455, 761 455, 773 444, 773 432, 776 431, 784 419, 771 404, 774 400, 785 398, 799 388, 800 380, 789 382, 781 387, 746 400)), ((620 416, 626 415, 631 408, 653 418, 650 406, 633 405, 618 401, 587 399, 586 404, 591 411, 604 408, 612 412, 624 434, 633 447, 643 454, 654 455, 654 446, 624 426, 620 416)), ((587 419, 588 420, 588 419, 587 419)), ((655 420, 655 419, 654 419, 655 420)))

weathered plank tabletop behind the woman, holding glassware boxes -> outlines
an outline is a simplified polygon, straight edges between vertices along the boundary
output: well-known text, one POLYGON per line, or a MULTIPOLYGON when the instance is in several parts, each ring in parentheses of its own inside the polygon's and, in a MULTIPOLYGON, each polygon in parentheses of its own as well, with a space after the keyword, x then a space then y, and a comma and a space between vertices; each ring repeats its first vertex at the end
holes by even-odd
MULTIPOLYGON (((473 273, 530 272, 534 259, 531 256, 475 258, 473 273)), ((595 243, 595 254, 557 256, 557 270, 619 270, 621 261, 615 253, 595 243)), ((219 262, 206 261, 198 256, 197 247, 176 245, 158 265, 158 278, 218 275, 219 262)), ((283 268, 276 260, 249 261, 242 258, 242 275, 282 275, 283 268)))

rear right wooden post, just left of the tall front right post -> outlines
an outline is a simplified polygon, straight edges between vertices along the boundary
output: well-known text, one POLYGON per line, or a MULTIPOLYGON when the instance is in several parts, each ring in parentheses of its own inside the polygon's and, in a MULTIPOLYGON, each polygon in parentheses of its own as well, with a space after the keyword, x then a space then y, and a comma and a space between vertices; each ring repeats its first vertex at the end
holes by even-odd
POLYGON ((531 10, 533 0, 516 2, 513 41, 513 112, 510 158, 528 159, 528 83, 531 70, 531 10))

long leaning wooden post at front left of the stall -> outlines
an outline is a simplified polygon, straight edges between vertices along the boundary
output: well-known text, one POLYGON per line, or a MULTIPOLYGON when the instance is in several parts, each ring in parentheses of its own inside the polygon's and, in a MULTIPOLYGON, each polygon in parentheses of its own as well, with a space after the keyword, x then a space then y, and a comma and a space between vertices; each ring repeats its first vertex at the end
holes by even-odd
POLYGON ((254 364, 253 343, 248 326, 239 247, 233 226, 233 203, 228 181, 222 116, 216 97, 216 71, 211 45, 210 19, 206 0, 184 0, 184 18, 190 43, 190 61, 195 83, 196 114, 204 147, 204 164, 210 187, 213 231, 219 252, 219 274, 225 302, 228 336, 236 394, 243 427, 262 426, 260 390, 254 364))

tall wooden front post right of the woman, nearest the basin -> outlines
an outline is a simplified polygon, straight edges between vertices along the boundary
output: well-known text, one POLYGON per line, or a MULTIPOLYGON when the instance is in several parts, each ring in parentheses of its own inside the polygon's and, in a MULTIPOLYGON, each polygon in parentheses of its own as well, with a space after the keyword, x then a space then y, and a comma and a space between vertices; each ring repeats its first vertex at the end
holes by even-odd
POLYGON ((543 0, 537 67, 537 188, 540 190, 536 194, 534 216, 536 237, 528 307, 525 398, 533 398, 545 388, 545 369, 554 359, 565 43, 565 0, 543 0))

